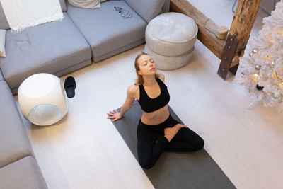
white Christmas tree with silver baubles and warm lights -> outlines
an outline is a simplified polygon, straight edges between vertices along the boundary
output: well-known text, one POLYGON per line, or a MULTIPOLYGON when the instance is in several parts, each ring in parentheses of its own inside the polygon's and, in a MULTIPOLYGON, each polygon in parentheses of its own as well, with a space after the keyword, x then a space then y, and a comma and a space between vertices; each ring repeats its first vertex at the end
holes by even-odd
POLYGON ((253 103, 280 107, 283 101, 283 0, 263 18, 258 37, 250 38, 250 54, 240 58, 235 81, 246 86, 253 103))

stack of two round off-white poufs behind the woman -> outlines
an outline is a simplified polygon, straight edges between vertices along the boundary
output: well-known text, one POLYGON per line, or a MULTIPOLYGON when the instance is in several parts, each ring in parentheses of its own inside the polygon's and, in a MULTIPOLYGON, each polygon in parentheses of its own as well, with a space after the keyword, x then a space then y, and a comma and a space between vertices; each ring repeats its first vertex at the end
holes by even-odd
POLYGON ((144 52, 158 69, 178 69, 189 61, 197 40, 197 24, 182 13, 162 13, 146 27, 144 52))

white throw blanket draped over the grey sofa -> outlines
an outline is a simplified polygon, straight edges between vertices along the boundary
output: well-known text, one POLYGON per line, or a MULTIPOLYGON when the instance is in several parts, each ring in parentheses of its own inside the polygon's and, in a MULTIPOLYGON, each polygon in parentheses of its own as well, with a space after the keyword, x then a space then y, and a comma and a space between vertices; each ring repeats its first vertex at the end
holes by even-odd
POLYGON ((13 31, 62 21, 63 13, 59 0, 0 0, 8 24, 13 31))

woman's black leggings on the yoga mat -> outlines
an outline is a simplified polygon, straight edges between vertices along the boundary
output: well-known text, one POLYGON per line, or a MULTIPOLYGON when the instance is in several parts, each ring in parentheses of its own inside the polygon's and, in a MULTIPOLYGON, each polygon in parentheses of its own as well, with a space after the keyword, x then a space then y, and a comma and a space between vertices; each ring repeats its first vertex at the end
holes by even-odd
POLYGON ((139 120, 137 125, 137 154, 143 168, 151 168, 163 151, 197 151, 204 147, 204 140, 189 128, 181 128, 171 142, 164 137, 166 127, 180 122, 169 118, 158 125, 146 125, 139 120))

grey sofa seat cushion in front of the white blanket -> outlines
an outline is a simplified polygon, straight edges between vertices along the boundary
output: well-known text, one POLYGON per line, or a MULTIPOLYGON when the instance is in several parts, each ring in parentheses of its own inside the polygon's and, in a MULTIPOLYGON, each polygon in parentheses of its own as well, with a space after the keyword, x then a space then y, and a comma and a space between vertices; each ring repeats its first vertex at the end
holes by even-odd
POLYGON ((6 32, 6 58, 0 59, 11 89, 32 74, 55 74, 91 58, 91 49, 67 13, 63 21, 6 32))

